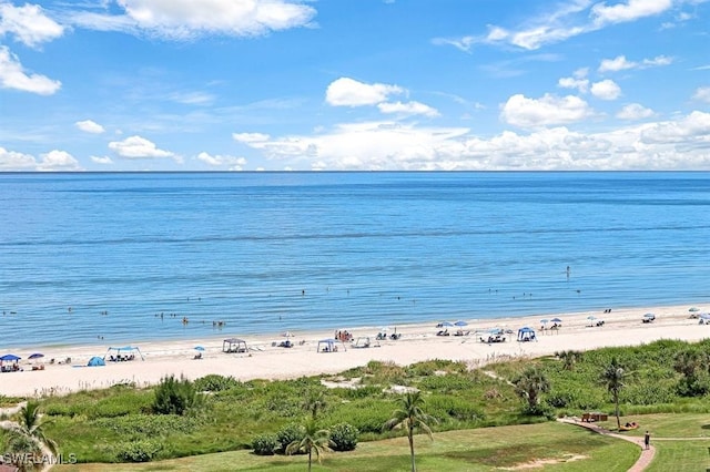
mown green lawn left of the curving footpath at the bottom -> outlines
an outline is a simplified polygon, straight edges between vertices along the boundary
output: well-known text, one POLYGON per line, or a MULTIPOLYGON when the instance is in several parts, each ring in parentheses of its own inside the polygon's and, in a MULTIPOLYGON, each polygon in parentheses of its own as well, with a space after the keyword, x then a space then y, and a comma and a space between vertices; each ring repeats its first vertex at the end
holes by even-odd
MULTIPOLYGON (((417 470, 437 472, 491 471, 545 461, 545 470, 627 471, 640 450, 631 443, 605 438, 581 428, 555 422, 436 433, 434 442, 416 438, 417 470)), ((250 451, 205 454, 145 464, 80 464, 53 470, 80 472, 138 471, 302 471, 305 455, 257 456, 250 451)), ((359 443, 353 452, 327 453, 314 470, 407 470, 406 438, 359 443)))

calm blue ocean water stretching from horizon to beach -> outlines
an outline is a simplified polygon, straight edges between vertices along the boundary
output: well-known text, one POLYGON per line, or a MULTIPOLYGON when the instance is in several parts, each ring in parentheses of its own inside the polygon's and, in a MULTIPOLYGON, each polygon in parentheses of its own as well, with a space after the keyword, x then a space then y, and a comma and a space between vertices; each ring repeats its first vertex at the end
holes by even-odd
POLYGON ((710 173, 0 174, 0 350, 710 304, 710 173))

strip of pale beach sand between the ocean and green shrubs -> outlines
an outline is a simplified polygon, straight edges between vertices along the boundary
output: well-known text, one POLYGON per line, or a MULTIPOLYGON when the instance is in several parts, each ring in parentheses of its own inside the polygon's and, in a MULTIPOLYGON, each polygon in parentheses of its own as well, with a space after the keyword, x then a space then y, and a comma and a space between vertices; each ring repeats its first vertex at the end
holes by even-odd
MULTIPOLYGON (((9 397, 33 397, 65 394, 82 389, 101 389, 116 383, 134 382, 139 387, 154 384, 170 374, 196 379, 209 373, 232 376, 239 380, 287 379, 303 376, 331 376, 349 368, 364 366, 371 360, 390 361, 409 365, 429 359, 459 360, 473 367, 484 366, 497 359, 535 358, 552 355, 556 351, 575 349, 590 350, 610 346, 637 346, 659 339, 681 339, 698 341, 710 337, 710 326, 700 326, 698 319, 691 319, 689 306, 638 307, 633 309, 612 309, 610 314, 585 311, 576 314, 552 314, 525 318, 503 318, 486 320, 465 320, 468 336, 436 336, 437 321, 420 325, 397 326, 398 340, 379 341, 379 347, 366 349, 352 348, 351 343, 339 345, 337 352, 318 352, 318 340, 333 338, 337 329, 347 329, 355 338, 369 336, 375 341, 377 327, 337 327, 329 331, 294 331, 291 340, 293 348, 280 348, 274 343, 284 338, 280 334, 243 337, 239 332, 223 332, 210 339, 142 342, 136 345, 145 360, 138 357, 133 361, 110 362, 104 367, 87 367, 93 356, 103 357, 108 346, 82 347, 32 347, 12 349, 22 357, 24 369, 20 372, 0 373, 0 394, 9 397), (656 320, 641 322, 643 314, 653 312, 656 320), (589 316, 604 319, 601 327, 589 327, 589 316), (541 319, 562 319, 557 330, 540 330, 541 319), (520 327, 529 326, 537 331, 537 340, 516 341, 520 327), (479 340, 476 331, 503 327, 514 331, 507 335, 506 342, 486 343, 479 340), (223 339, 242 338, 247 342, 244 353, 222 352, 223 339), (193 359, 197 353, 195 346, 203 346, 203 358, 193 359), (30 353, 44 353, 41 359, 44 370, 31 370, 30 353), (54 363, 49 363, 51 359, 54 363), (71 363, 63 363, 71 358, 71 363), (58 363, 62 361, 62 363, 58 363)), ((455 321, 455 320, 449 320, 455 321)), ((548 322, 547 326, 551 326, 548 322)), ((389 332, 393 332, 395 327, 389 332)), ((449 327, 453 335, 456 327, 449 327)), ((487 338, 487 335, 486 335, 487 338)), ((108 357, 106 357, 108 359, 108 357)))

